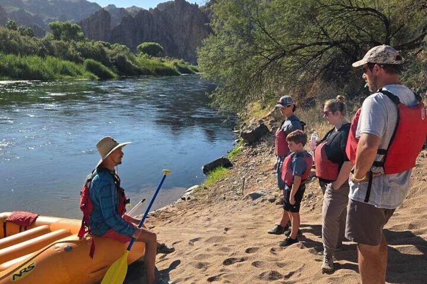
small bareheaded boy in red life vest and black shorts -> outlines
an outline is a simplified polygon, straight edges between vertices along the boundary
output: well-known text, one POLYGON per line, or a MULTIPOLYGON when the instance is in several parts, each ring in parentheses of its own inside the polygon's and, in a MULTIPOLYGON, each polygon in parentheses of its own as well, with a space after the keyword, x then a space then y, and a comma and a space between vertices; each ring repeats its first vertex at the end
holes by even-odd
POLYGON ((301 130, 291 132, 287 137, 291 154, 283 161, 282 180, 285 183, 283 191, 283 210, 290 212, 292 228, 284 234, 288 237, 279 246, 289 246, 297 243, 300 228, 300 206, 306 190, 305 181, 310 175, 312 156, 304 150, 307 134, 301 130))

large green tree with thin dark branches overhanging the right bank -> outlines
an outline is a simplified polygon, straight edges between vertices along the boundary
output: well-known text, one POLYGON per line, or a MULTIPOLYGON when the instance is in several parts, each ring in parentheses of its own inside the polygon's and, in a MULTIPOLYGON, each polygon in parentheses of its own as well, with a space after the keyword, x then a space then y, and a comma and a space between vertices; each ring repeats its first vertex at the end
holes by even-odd
POLYGON ((214 102, 234 111, 268 104, 278 89, 303 98, 333 85, 357 96, 351 63, 368 49, 388 44, 416 60, 427 45, 425 0, 218 0, 210 9, 214 33, 198 63, 219 83, 214 102))

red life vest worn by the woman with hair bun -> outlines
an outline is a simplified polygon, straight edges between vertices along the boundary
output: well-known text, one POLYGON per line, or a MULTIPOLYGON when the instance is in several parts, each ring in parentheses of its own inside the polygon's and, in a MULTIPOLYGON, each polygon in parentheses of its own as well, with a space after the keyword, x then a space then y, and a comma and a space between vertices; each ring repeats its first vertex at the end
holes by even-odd
MULTIPOLYGON (((334 129, 332 129, 334 130, 334 129)), ((314 149, 314 165, 316 166, 316 176, 322 179, 335 181, 338 177, 337 163, 332 162, 326 155, 325 146, 328 141, 323 141, 314 149)))

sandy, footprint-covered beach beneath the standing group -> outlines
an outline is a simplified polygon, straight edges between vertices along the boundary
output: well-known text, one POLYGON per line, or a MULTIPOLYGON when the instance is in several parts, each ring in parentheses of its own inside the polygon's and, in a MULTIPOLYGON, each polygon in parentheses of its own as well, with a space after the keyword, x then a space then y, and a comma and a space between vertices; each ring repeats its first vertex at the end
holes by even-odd
MULTIPOLYGON (((427 282, 427 153, 418 156, 408 197, 385 227, 388 283, 427 282)), ((233 160, 231 176, 191 195, 190 200, 150 215, 146 224, 174 253, 157 256, 165 280, 177 283, 359 283, 355 243, 335 254, 335 272, 322 274, 322 192, 307 184, 301 210, 300 242, 278 246, 285 236, 269 235, 280 218, 272 137, 245 146, 233 160), (245 186, 243 188, 243 177, 245 186), (247 195, 263 191, 253 200, 247 195)))

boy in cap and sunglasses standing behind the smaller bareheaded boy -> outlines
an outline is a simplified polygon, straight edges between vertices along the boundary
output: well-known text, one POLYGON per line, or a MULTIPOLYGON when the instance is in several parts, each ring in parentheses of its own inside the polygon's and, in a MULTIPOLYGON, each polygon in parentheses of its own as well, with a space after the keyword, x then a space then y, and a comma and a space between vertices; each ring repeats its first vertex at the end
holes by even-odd
MULTIPOLYGON (((276 130, 274 141, 274 154, 277 156, 277 162, 275 164, 275 169, 277 171, 277 185, 279 187, 279 191, 284 194, 283 190, 285 184, 281 179, 281 169, 284 158, 286 158, 286 156, 288 156, 291 152, 289 150, 286 137, 289 133, 295 130, 302 130, 303 127, 301 125, 300 119, 294 114, 297 107, 295 106, 295 101, 291 96, 281 97, 275 107, 279 109, 280 114, 285 118, 285 120, 282 121, 279 128, 276 130)), ((274 225, 274 227, 267 233, 273 235, 283 234, 285 231, 289 230, 289 221, 290 216, 288 212, 283 210, 279 223, 274 225)))

